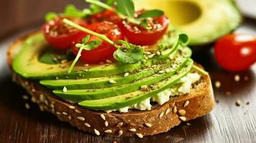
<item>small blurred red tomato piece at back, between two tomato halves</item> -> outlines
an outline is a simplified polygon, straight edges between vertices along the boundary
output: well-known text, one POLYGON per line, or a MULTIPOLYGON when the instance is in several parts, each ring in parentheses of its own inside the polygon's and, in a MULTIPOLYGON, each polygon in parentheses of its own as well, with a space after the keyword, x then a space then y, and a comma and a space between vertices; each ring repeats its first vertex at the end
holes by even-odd
POLYGON ((90 24, 101 22, 101 21, 110 21, 110 22, 113 22, 114 24, 119 24, 121 19, 118 16, 118 14, 115 14, 113 11, 106 10, 90 16, 88 21, 90 22, 90 24))

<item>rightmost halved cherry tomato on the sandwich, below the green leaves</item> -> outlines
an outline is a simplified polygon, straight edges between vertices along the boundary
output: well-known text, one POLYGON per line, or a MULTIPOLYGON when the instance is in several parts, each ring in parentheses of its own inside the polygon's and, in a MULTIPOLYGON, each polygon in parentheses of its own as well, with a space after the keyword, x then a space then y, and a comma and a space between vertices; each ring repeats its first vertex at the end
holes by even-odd
POLYGON ((162 38, 169 26, 169 19, 166 16, 159 16, 148 21, 148 27, 131 24, 123 20, 118 24, 120 30, 123 32, 129 42, 136 45, 152 45, 162 38))

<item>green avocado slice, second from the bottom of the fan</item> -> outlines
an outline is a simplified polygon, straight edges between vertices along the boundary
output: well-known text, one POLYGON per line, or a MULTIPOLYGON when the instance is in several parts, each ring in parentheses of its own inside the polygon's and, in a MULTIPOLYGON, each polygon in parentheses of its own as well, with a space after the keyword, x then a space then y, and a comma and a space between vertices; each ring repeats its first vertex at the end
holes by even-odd
POLYGON ((76 90, 67 90, 67 92, 63 92, 62 90, 54 90, 54 94, 62 99, 72 101, 72 102, 81 102, 82 100, 90 100, 90 99, 103 99, 107 97, 114 97, 120 94, 127 94, 130 92, 134 92, 136 90, 141 89, 143 85, 151 85, 156 84, 157 82, 161 82, 164 79, 172 77, 176 71, 179 71, 183 68, 183 66, 188 61, 187 57, 179 58, 174 63, 170 64, 166 67, 161 67, 162 71, 167 71, 166 73, 155 73, 150 77, 146 77, 145 79, 141 79, 138 81, 134 81, 132 83, 123 84, 118 87, 110 87, 103 89, 76 89, 76 90))

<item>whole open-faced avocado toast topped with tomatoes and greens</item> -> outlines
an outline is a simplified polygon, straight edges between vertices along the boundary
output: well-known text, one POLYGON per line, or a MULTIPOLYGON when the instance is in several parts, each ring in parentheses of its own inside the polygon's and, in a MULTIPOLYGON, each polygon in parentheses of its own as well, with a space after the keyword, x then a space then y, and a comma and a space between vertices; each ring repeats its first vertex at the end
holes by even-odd
POLYGON ((41 31, 9 47, 14 82, 42 111, 96 135, 142 138, 212 110, 209 75, 163 11, 87 2, 47 14, 41 31))

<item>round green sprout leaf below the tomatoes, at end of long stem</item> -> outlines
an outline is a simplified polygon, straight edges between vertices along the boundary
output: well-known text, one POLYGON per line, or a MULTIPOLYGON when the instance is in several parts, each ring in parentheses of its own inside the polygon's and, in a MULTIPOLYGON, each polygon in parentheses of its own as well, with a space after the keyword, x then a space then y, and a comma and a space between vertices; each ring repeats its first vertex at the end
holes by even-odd
POLYGON ((122 44, 118 46, 114 53, 115 60, 120 63, 135 64, 143 59, 143 49, 141 49, 141 46, 136 46, 123 40, 116 41, 115 43, 122 44))

